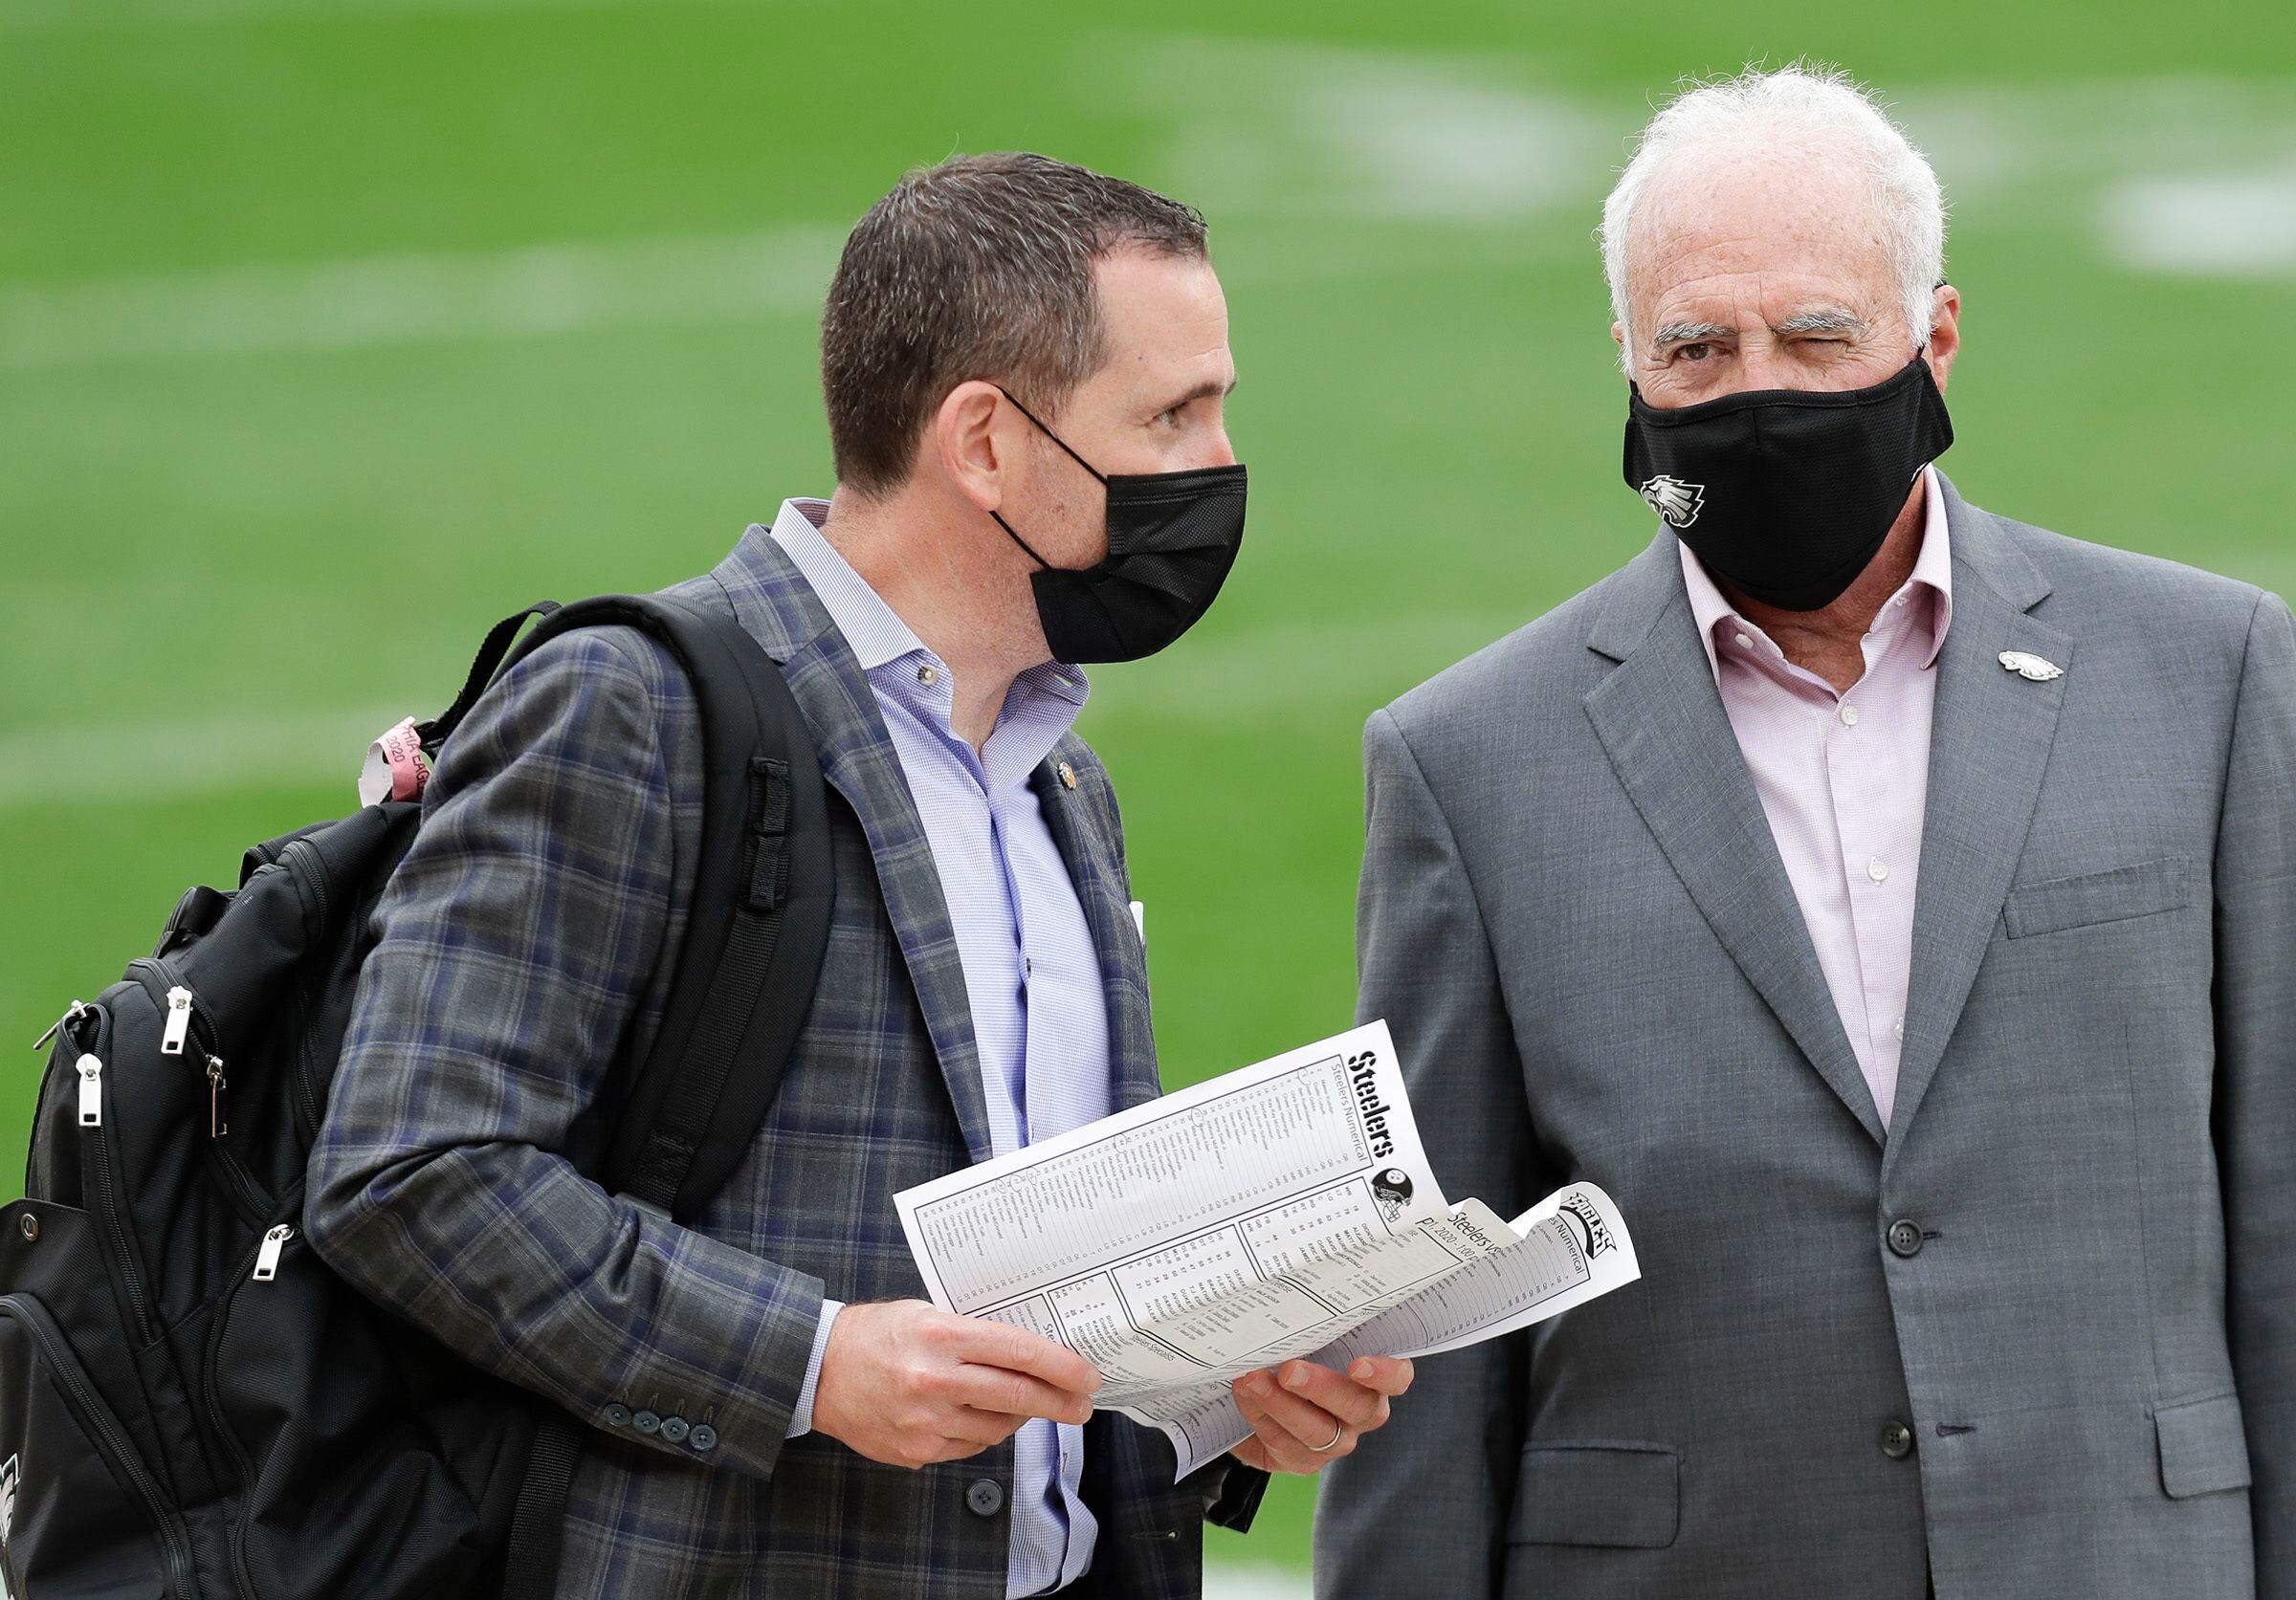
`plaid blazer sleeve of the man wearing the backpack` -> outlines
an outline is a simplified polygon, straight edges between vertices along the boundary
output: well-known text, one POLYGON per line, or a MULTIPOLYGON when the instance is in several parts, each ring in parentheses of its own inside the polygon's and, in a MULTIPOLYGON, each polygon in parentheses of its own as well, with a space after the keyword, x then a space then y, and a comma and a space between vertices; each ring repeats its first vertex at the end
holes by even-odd
POLYGON ((567 1157, 693 870, 664 758, 673 725, 670 748, 698 748, 691 691, 629 638, 643 661, 602 631, 542 645, 448 741, 374 914, 305 1228, 475 1366, 625 1444, 765 1478, 820 1279, 608 1196, 567 1157), (611 1405, 714 1442, 615 1428, 611 1405))

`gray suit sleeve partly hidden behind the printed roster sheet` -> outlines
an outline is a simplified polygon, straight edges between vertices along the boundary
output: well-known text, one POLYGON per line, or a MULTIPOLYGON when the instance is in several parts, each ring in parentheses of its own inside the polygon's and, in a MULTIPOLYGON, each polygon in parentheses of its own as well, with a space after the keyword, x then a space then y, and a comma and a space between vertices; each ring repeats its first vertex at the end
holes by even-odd
MULTIPOLYGON (((1538 1198, 1529 1109, 1474 884, 1391 712, 1364 730, 1364 769, 1357 1019, 1394 1031, 1442 1191, 1511 1217, 1538 1198)), ((1529 1334, 1426 1357, 1389 1423, 1325 1467, 1322 1600, 1499 1593, 1527 1357, 1529 1334)))

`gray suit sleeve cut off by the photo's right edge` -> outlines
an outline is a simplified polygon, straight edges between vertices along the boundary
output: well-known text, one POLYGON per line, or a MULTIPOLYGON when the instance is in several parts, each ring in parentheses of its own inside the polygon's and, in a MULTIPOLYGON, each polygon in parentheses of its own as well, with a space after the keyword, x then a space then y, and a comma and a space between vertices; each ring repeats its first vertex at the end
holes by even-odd
POLYGON ((2248 622, 2216 845, 2216 1157, 2259 1600, 2296 1600, 2296 622, 2248 622))

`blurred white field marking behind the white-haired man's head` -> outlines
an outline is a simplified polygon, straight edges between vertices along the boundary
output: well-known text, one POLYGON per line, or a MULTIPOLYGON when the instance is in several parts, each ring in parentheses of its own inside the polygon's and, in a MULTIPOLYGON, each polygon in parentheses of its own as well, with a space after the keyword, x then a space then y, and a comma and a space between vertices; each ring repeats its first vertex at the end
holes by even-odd
MULTIPOLYGON (((1095 73, 1130 62, 1139 108, 1173 129, 1162 168, 1215 220, 1580 216, 1593 230, 1649 115, 1639 96, 1545 87, 1536 57, 1502 53, 1104 34, 1086 55, 1095 73)), ((1653 85, 1651 103, 1665 92, 1653 85)), ((1947 195, 1991 227, 2094 223, 2119 264, 2257 278, 2296 271, 2291 108, 2296 85, 2285 78, 2154 76, 1919 85, 1892 112, 1931 154, 1947 195)), ((1543 227, 1534 248, 1548 241, 1596 259, 1584 234, 1543 227)))

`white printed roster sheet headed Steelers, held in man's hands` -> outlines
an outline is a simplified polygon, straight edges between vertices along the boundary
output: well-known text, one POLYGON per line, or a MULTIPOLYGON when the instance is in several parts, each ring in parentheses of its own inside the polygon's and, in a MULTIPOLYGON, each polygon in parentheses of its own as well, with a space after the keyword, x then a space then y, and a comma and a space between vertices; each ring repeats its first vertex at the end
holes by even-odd
MULTIPOLYGON (((1469 1111, 1469 1116, 1476 1116, 1469 1111)), ((1639 1276, 1609 1196, 1513 1221, 1428 1171, 1384 1022, 893 1196, 932 1304, 1091 1359, 1180 1476, 1249 1437, 1228 1380, 1421 1357, 1639 1276)))

